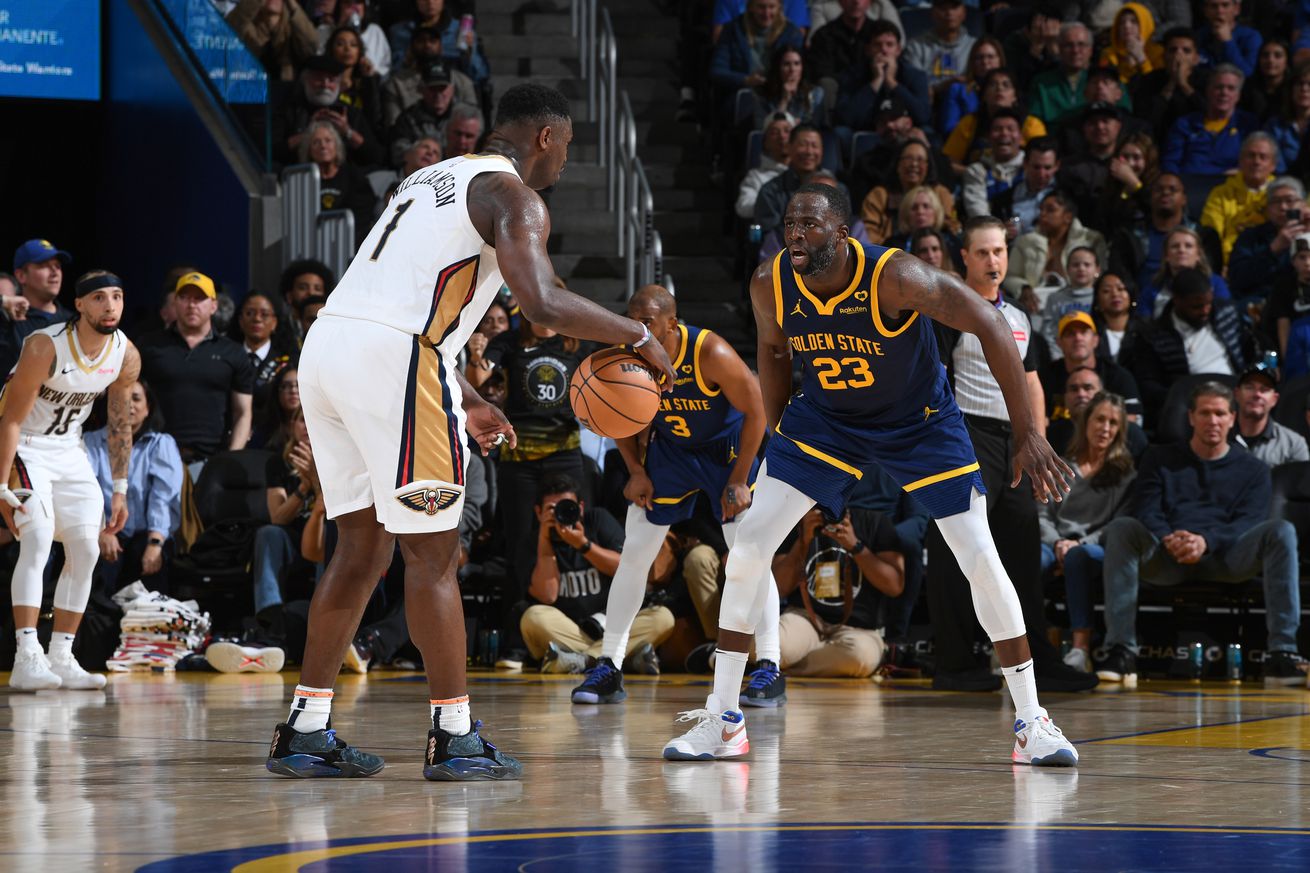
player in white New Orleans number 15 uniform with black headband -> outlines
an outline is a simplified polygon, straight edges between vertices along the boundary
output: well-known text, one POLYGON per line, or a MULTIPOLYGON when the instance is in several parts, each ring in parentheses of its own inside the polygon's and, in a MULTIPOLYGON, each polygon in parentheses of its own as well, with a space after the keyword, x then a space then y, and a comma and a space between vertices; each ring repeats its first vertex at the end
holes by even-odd
POLYGON ((0 515, 18 537, 18 566, 10 583, 18 651, 9 687, 103 688, 105 676, 73 658, 73 638, 90 598, 100 558, 100 532, 127 522, 127 463, 131 387, 141 371, 136 347, 118 329, 123 282, 98 270, 77 279, 77 315, 37 330, 0 393, 0 515), (109 459, 114 475, 111 518, 81 442, 83 422, 109 391, 109 459), (55 624, 48 657, 37 641, 43 575, 54 540, 64 544, 64 569, 55 586, 55 624))

